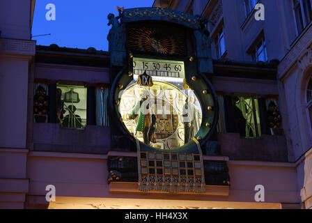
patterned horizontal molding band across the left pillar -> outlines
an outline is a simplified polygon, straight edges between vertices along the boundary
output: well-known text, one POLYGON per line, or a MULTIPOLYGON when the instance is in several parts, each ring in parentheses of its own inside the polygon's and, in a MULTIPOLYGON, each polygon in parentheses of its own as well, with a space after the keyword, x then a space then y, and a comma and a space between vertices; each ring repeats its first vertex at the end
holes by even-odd
POLYGON ((0 38, 0 54, 22 54, 35 56, 36 41, 0 38))

